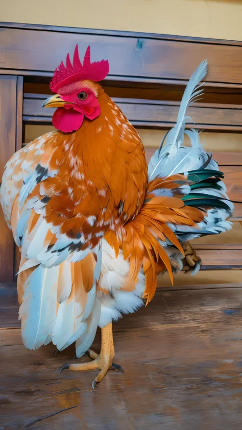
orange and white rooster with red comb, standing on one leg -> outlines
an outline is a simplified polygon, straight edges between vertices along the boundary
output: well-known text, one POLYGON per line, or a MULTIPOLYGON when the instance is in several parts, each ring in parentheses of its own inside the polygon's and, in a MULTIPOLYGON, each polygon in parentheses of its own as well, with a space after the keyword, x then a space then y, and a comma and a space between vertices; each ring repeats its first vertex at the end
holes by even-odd
POLYGON ((207 62, 185 89, 175 127, 147 166, 137 132, 99 84, 108 61, 83 64, 78 46, 51 81, 43 103, 57 108, 47 133, 8 161, 1 187, 5 219, 21 251, 17 289, 23 344, 50 342, 93 361, 62 369, 113 364, 112 321, 150 302, 157 274, 189 270, 201 260, 189 240, 231 228, 224 176, 186 130, 187 107, 202 93, 207 62), (183 146, 184 134, 191 146, 183 146), (166 144, 164 144, 166 141, 166 144), (90 350, 101 327, 101 351, 90 350))

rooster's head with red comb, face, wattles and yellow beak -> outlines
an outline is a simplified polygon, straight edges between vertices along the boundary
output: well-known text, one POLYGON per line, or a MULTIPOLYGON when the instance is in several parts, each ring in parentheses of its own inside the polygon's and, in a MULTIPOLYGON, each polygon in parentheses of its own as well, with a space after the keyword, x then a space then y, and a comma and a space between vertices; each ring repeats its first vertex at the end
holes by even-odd
POLYGON ((107 60, 91 63, 90 46, 87 47, 83 64, 80 61, 78 45, 76 45, 73 62, 69 54, 66 57, 66 67, 63 61, 54 72, 50 84, 55 95, 47 98, 43 108, 57 108, 52 123, 54 127, 64 133, 77 131, 84 116, 93 120, 101 113, 98 101, 102 81, 109 72, 107 60))

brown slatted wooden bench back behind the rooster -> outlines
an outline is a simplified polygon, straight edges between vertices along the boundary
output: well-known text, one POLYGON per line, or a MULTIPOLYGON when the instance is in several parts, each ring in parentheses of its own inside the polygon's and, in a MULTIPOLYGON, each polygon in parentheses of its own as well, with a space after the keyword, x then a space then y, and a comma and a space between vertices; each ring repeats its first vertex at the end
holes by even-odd
MULTIPOLYGON (((204 99, 188 115, 226 173, 229 197, 237 202, 231 219, 242 221, 242 43, 13 23, 0 23, 0 38, 1 177, 10 156, 30 140, 30 126, 33 137, 52 129, 54 110, 41 105, 55 67, 76 43, 81 58, 90 44, 92 60, 109 60, 103 86, 138 129, 147 159, 175 124, 185 85, 207 58, 204 99)), ((0 282, 12 283, 19 256, 2 211, 0 227, 0 282)), ((224 243, 195 243, 203 270, 242 269, 242 245, 227 243, 227 237, 224 243)))

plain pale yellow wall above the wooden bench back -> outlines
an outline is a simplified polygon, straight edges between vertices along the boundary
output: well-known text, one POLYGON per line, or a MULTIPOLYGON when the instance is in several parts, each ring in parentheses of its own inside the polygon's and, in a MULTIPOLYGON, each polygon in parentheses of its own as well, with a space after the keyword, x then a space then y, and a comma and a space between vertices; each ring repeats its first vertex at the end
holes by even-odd
POLYGON ((242 40, 241 0, 2 0, 0 19, 242 40))

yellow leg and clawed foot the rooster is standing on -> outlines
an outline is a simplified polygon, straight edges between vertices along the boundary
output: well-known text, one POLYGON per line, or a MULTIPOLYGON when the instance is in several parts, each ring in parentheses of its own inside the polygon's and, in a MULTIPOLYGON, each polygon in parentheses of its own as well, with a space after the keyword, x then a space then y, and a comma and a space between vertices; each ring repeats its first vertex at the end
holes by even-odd
POLYGON ((75 370, 75 371, 100 369, 99 374, 96 375, 96 377, 92 381, 92 388, 94 388, 96 383, 102 381, 102 379, 104 378, 104 376, 106 375, 107 371, 110 368, 123 371, 122 367, 112 362, 114 357, 114 346, 113 346, 113 333, 112 333, 111 323, 101 329, 101 335, 102 335, 102 340, 101 340, 100 355, 98 355, 96 352, 92 351, 91 349, 88 349, 87 353, 93 359, 93 361, 90 361, 88 363, 64 364, 60 368, 60 372, 64 369, 75 370))

